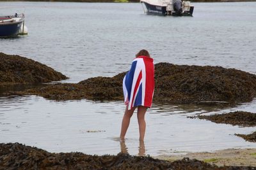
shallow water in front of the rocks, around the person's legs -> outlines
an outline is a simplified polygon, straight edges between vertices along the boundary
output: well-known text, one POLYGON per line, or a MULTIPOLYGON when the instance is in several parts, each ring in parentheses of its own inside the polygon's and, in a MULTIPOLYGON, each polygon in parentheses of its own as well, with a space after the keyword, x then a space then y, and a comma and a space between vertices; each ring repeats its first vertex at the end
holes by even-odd
POLYGON ((256 110, 256 99, 234 107, 194 104, 154 104, 146 114, 145 144, 139 142, 136 116, 131 118, 125 141, 120 142, 122 102, 51 101, 38 96, 0 97, 0 140, 24 143, 49 152, 88 154, 162 155, 204 152, 225 148, 255 148, 255 143, 234 136, 255 127, 214 124, 191 119, 197 114, 256 110))

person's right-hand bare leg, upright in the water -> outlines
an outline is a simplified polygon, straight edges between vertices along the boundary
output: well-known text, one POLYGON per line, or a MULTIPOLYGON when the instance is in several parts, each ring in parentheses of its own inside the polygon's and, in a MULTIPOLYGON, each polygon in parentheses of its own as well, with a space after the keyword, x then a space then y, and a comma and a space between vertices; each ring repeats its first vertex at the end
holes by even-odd
POLYGON ((146 122, 145 122, 145 113, 147 111, 147 107, 138 106, 137 118, 140 129, 140 141, 144 141, 145 131, 146 131, 146 122))

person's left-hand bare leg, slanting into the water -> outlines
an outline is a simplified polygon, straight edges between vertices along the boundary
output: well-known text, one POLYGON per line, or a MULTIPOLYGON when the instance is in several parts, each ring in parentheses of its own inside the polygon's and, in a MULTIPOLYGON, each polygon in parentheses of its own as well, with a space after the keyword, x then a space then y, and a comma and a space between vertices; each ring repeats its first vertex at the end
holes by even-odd
POLYGON ((130 124, 130 119, 131 119, 132 114, 133 114, 135 109, 136 108, 132 108, 131 110, 128 110, 128 106, 126 106, 125 112, 124 112, 124 117, 123 117, 123 120, 122 120, 122 128, 121 128, 121 133, 120 133, 120 139, 124 139, 125 134, 127 132, 129 124, 130 124))

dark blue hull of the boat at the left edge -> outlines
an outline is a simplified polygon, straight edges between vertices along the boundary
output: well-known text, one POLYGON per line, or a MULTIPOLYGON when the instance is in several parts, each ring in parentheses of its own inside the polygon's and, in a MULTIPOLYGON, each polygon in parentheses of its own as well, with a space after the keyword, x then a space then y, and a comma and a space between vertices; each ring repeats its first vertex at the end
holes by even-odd
POLYGON ((0 23, 0 37, 17 36, 23 21, 0 23))

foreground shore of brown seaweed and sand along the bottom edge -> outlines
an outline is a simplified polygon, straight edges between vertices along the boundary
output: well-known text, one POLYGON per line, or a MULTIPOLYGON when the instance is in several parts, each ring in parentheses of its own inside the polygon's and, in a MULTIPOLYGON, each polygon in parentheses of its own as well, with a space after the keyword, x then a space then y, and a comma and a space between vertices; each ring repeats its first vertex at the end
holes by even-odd
POLYGON ((216 153, 189 153, 175 158, 134 156, 127 153, 51 153, 20 143, 0 143, 0 169, 254 169, 256 148, 227 149, 216 153))

